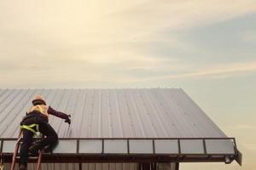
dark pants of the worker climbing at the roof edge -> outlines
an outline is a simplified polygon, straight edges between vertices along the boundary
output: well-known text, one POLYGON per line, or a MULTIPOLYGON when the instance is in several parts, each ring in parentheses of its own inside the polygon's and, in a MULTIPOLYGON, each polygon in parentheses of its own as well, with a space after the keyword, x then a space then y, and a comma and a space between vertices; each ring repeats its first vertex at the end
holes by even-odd
MULTIPOLYGON (((41 150, 44 146, 53 147, 58 143, 58 135, 55 132, 55 129, 49 125, 47 121, 41 116, 32 116, 27 118, 22 122, 24 125, 30 125, 32 123, 37 123, 39 125, 39 131, 44 136, 45 139, 40 140, 38 144, 38 150, 41 150)), ((28 157, 28 148, 32 144, 32 137, 34 133, 29 130, 23 129, 23 143, 20 147, 20 163, 26 164, 28 157)))

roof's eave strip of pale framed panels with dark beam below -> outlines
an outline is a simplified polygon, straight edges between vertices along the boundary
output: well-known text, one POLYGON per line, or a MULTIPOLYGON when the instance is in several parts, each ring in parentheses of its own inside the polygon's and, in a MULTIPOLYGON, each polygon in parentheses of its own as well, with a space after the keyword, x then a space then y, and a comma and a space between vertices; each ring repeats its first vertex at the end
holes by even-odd
MULTIPOLYGON (((11 162, 17 139, 0 139, 5 162, 11 162)), ((235 138, 90 138, 60 139, 42 162, 225 162, 241 153, 235 138)), ((37 161, 30 158, 30 162, 37 161)))

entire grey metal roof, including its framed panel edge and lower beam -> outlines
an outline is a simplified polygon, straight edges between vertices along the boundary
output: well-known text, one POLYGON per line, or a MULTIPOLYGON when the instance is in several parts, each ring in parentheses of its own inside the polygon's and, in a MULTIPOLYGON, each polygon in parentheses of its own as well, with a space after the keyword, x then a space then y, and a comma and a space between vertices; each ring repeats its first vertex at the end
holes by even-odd
POLYGON ((43 162, 227 162, 228 156, 241 163, 236 140, 180 88, 0 89, 0 153, 7 162, 38 94, 72 116, 70 127, 49 117, 61 139, 43 162))

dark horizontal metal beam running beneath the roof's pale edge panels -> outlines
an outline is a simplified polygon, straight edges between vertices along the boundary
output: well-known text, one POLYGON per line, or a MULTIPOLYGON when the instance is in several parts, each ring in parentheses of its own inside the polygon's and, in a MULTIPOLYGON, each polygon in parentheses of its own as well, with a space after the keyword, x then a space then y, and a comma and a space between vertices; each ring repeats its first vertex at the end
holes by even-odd
MULTIPOLYGON (((12 161, 12 154, 4 154, 3 159, 5 162, 12 161)), ((35 159, 29 159, 29 162, 36 162, 35 159)), ((233 160, 231 160, 233 161, 233 160)), ((142 162, 142 163, 150 163, 150 162, 224 162, 224 157, 201 157, 201 156, 184 156, 183 159, 177 159, 177 156, 121 156, 121 155, 62 155, 62 154, 53 154, 53 155, 43 155, 42 162, 73 162, 73 163, 82 163, 82 162, 142 162)))

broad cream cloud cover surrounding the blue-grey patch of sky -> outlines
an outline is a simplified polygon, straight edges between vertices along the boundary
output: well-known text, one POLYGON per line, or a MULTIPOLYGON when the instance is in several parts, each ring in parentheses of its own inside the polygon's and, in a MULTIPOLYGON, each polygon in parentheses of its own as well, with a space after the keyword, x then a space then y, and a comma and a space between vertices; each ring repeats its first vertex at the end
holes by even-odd
POLYGON ((149 50, 150 42, 186 50, 185 42, 166 37, 166 31, 251 14, 256 9, 253 4, 252 0, 0 0, 2 85, 37 78, 44 86, 60 81, 137 82, 254 71, 253 65, 242 64, 195 70, 176 55, 162 59, 149 50))

